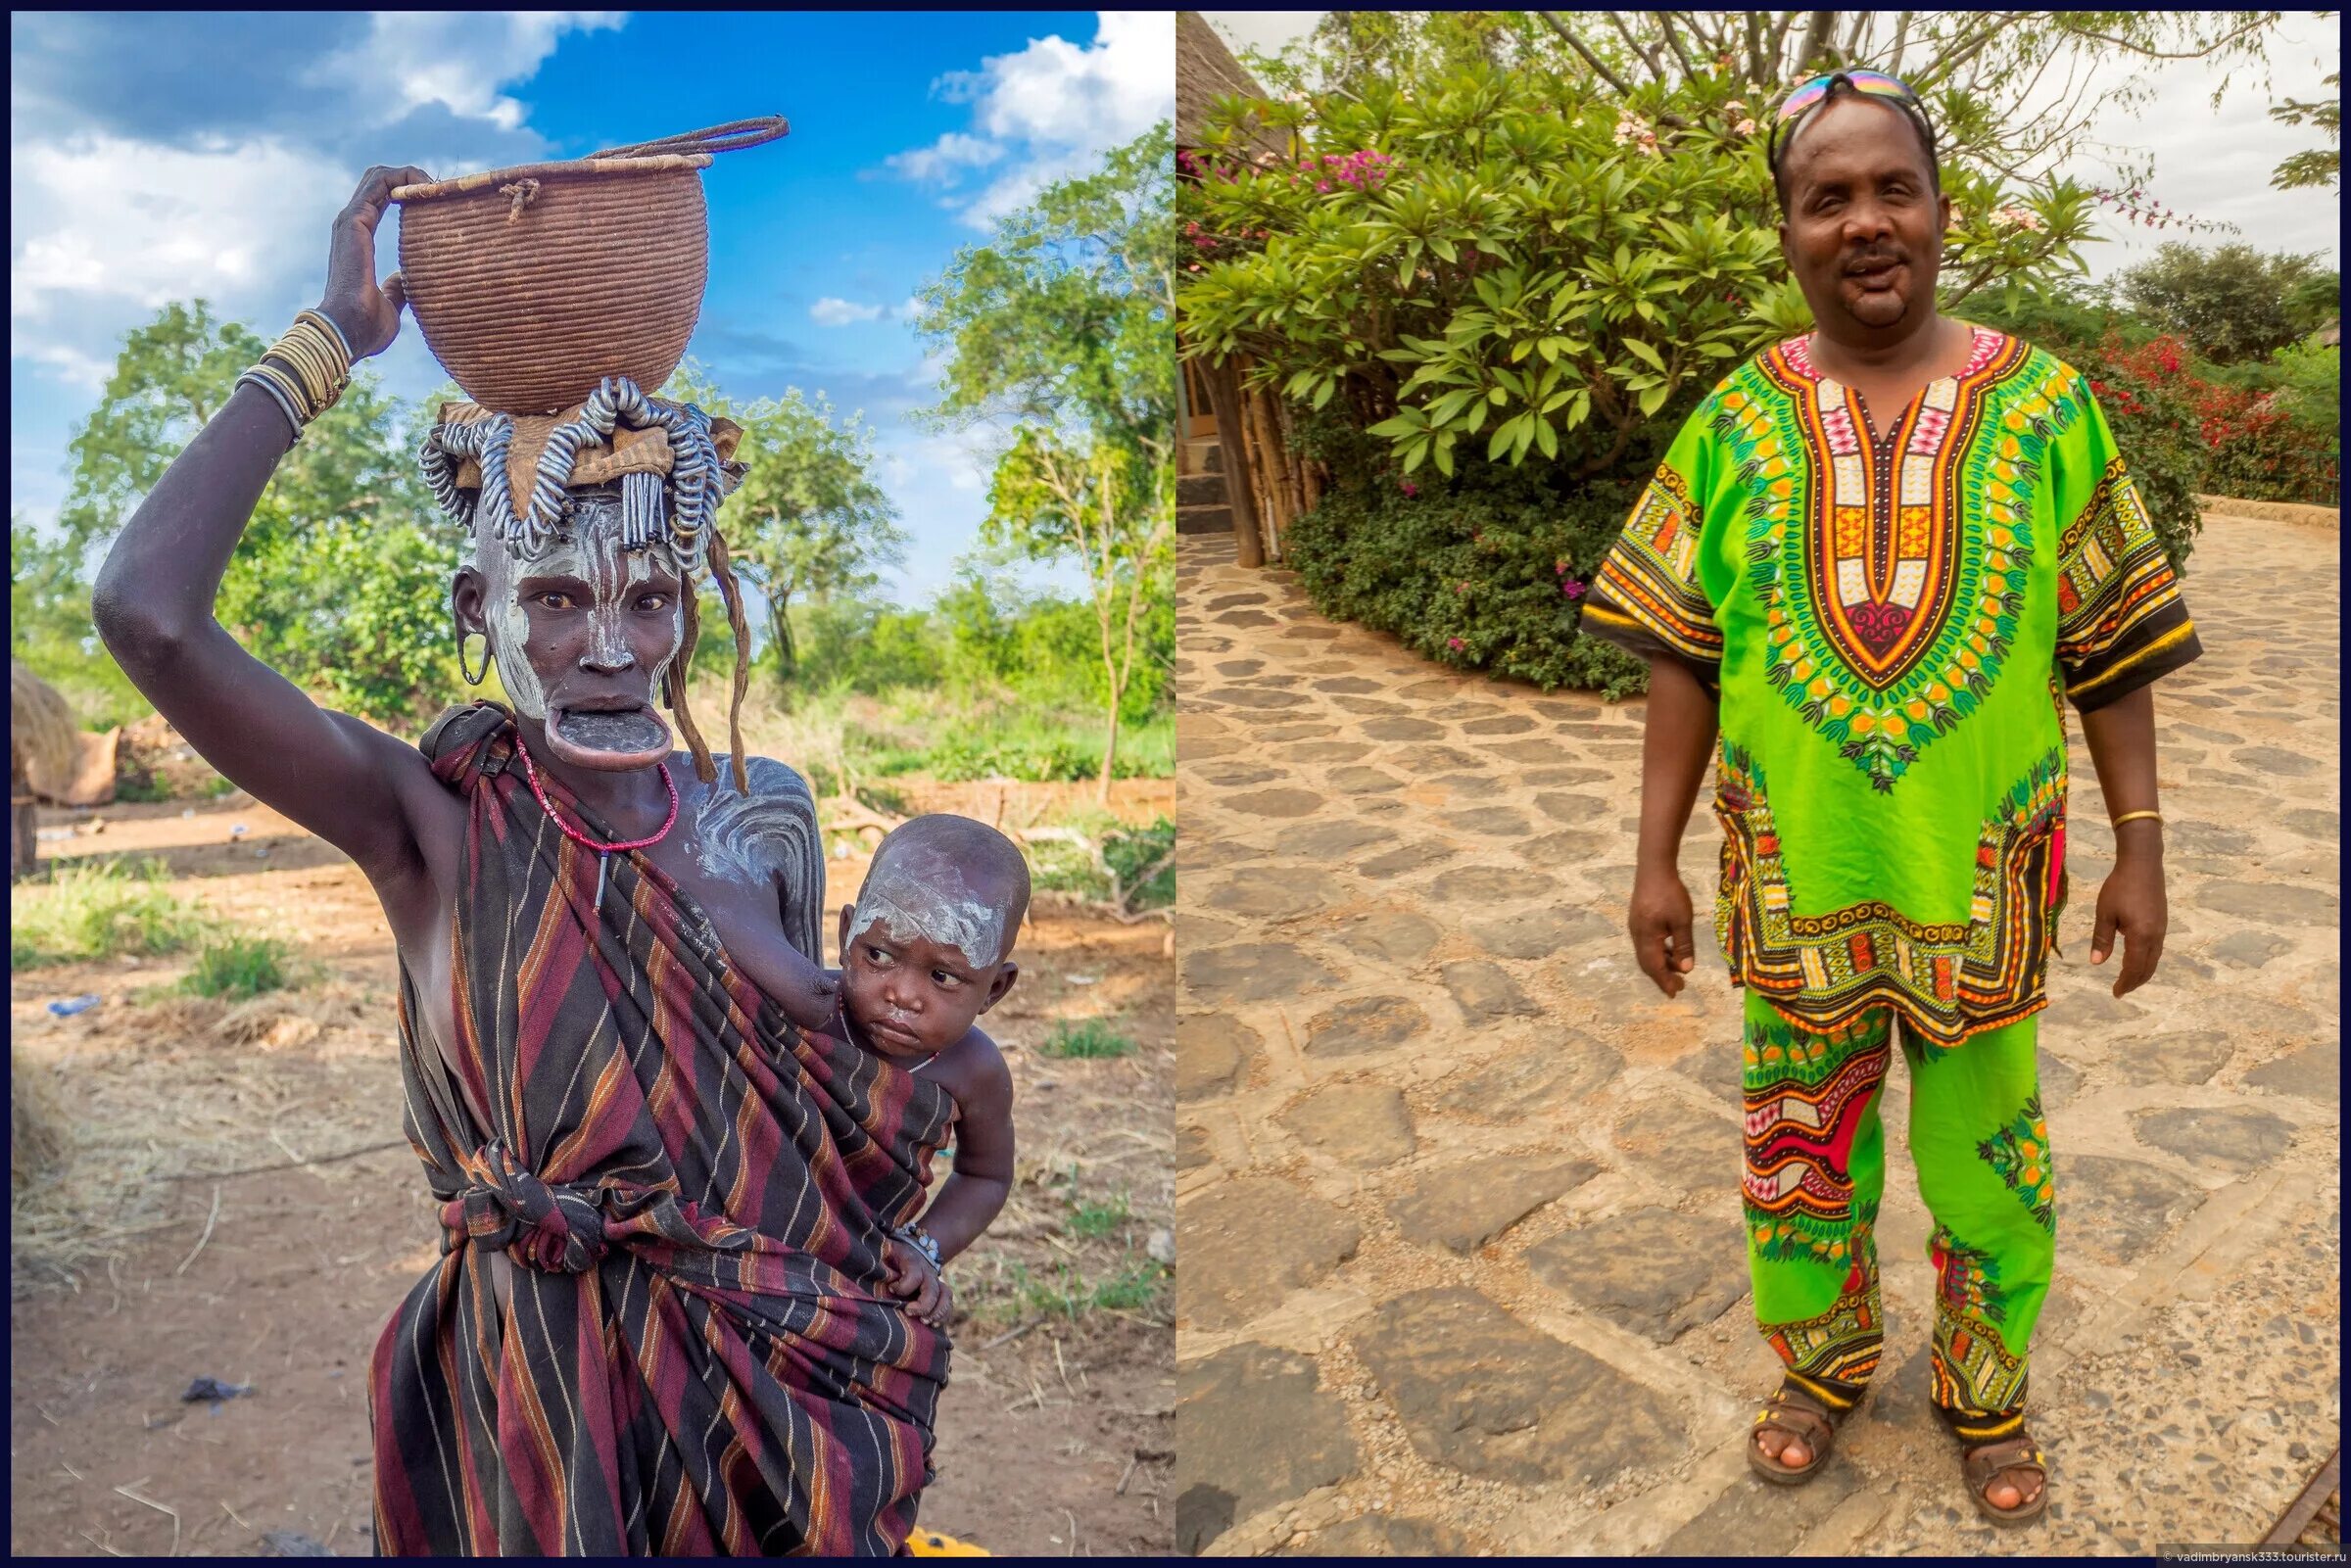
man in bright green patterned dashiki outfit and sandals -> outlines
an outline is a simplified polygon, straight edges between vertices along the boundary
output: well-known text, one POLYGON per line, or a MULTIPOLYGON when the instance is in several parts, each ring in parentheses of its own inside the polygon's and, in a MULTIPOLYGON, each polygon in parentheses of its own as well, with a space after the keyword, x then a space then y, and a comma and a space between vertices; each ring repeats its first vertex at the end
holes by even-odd
POLYGON ((2064 703, 2114 813, 2090 957, 2163 950, 2149 682, 2198 656, 2081 374, 1935 313, 1951 202, 1916 96, 1836 73, 1773 129, 1815 331, 1697 407, 1596 574, 1585 630, 1650 661, 1629 929, 1676 994, 1674 867, 1719 748, 1716 936, 1747 990, 1744 1208, 1784 1380, 1749 1465, 1810 1479, 1881 1349, 1878 1091, 1900 1037, 1933 1211, 1933 1399, 1977 1507, 2048 1505, 2024 1434, 2055 1187, 2034 1065, 2064 903, 2064 703))

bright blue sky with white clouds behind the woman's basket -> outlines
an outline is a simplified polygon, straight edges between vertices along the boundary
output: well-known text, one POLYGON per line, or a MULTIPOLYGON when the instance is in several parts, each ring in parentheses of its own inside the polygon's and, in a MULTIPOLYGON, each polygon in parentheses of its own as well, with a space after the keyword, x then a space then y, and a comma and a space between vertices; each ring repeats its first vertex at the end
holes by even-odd
MULTIPOLYGON (((205 296, 275 336, 367 165, 435 176, 781 113, 722 155, 689 353, 741 400, 863 411, 924 602, 976 543, 985 435, 926 430, 910 296, 987 219, 1173 113, 1173 14, 183 12, 9 19, 9 505, 40 522, 120 336, 205 296)), ((386 221, 379 273, 397 237, 386 221)), ((414 322, 374 367, 444 376, 414 322)), ((1074 581, 1051 574, 1053 581, 1074 581)))

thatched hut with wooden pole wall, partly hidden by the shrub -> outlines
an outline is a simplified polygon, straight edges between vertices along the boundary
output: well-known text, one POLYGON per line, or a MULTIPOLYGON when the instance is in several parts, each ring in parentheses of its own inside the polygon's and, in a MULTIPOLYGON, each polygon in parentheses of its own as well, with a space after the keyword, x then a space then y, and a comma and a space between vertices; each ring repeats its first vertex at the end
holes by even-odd
MULTIPOLYGON (((1215 99, 1262 99, 1265 87, 1241 68, 1199 12, 1176 12, 1176 148, 1199 148, 1215 99)), ((1244 143, 1255 160, 1288 162, 1291 143, 1255 120, 1244 143)), ((1183 320, 1176 322, 1183 343, 1183 320)), ((1319 475, 1288 451, 1281 400, 1241 386, 1246 360, 1185 360, 1180 390, 1183 463, 1176 487, 1176 527, 1185 534, 1232 529, 1244 567, 1281 555, 1281 529, 1321 498, 1319 475)))

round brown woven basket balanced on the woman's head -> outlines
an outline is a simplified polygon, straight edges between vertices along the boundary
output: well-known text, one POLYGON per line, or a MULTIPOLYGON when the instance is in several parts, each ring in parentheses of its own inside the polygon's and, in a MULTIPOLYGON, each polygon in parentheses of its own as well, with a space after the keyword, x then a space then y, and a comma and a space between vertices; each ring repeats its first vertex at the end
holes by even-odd
POLYGON ((604 376, 647 393, 686 357, 710 275, 703 169, 781 115, 400 186, 400 275, 426 346, 498 414, 555 414, 604 376))

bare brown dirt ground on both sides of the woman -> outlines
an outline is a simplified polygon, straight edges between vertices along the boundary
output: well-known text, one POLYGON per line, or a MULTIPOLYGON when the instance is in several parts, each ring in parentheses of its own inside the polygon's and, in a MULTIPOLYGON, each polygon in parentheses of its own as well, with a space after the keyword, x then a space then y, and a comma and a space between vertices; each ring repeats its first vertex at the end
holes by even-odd
MULTIPOLYGON (((910 795, 971 811, 973 790, 910 795)), ((1171 799, 1138 780, 1114 809, 1147 823, 1171 799)), ((1056 804, 1013 785, 1002 811, 1037 820, 1056 804)), ((66 823, 85 830, 45 842, 45 858, 155 856, 174 891, 292 938, 315 969, 240 1009, 158 997, 183 957, 12 976, 19 1074, 40 1079, 16 1093, 63 1107, 73 1152, 12 1215, 9 1547, 233 1556, 299 1547, 270 1542, 296 1533, 369 1554, 367 1356, 437 1251, 400 1133, 395 969, 374 896, 336 851, 242 797, 42 813, 66 823), (103 1001, 73 1018, 45 1006, 78 994, 103 1001), (181 1403, 195 1378, 252 1394, 181 1403)), ((832 903, 860 877, 858 853, 835 858, 832 903)), ((922 1523, 997 1554, 1173 1544, 1173 1342, 1152 1260, 1173 1215, 1166 933, 1041 903, 1020 987, 990 1013, 1013 1067, 1020 1182, 950 1269, 959 1319, 922 1523), (1037 1048, 1056 1020, 1089 1016, 1138 1048, 1037 1048), (1079 1213, 1091 1222, 1072 1227, 1079 1213), (1154 1288, 1074 1314, 1039 1305, 1039 1281, 1112 1279, 1154 1288)))

